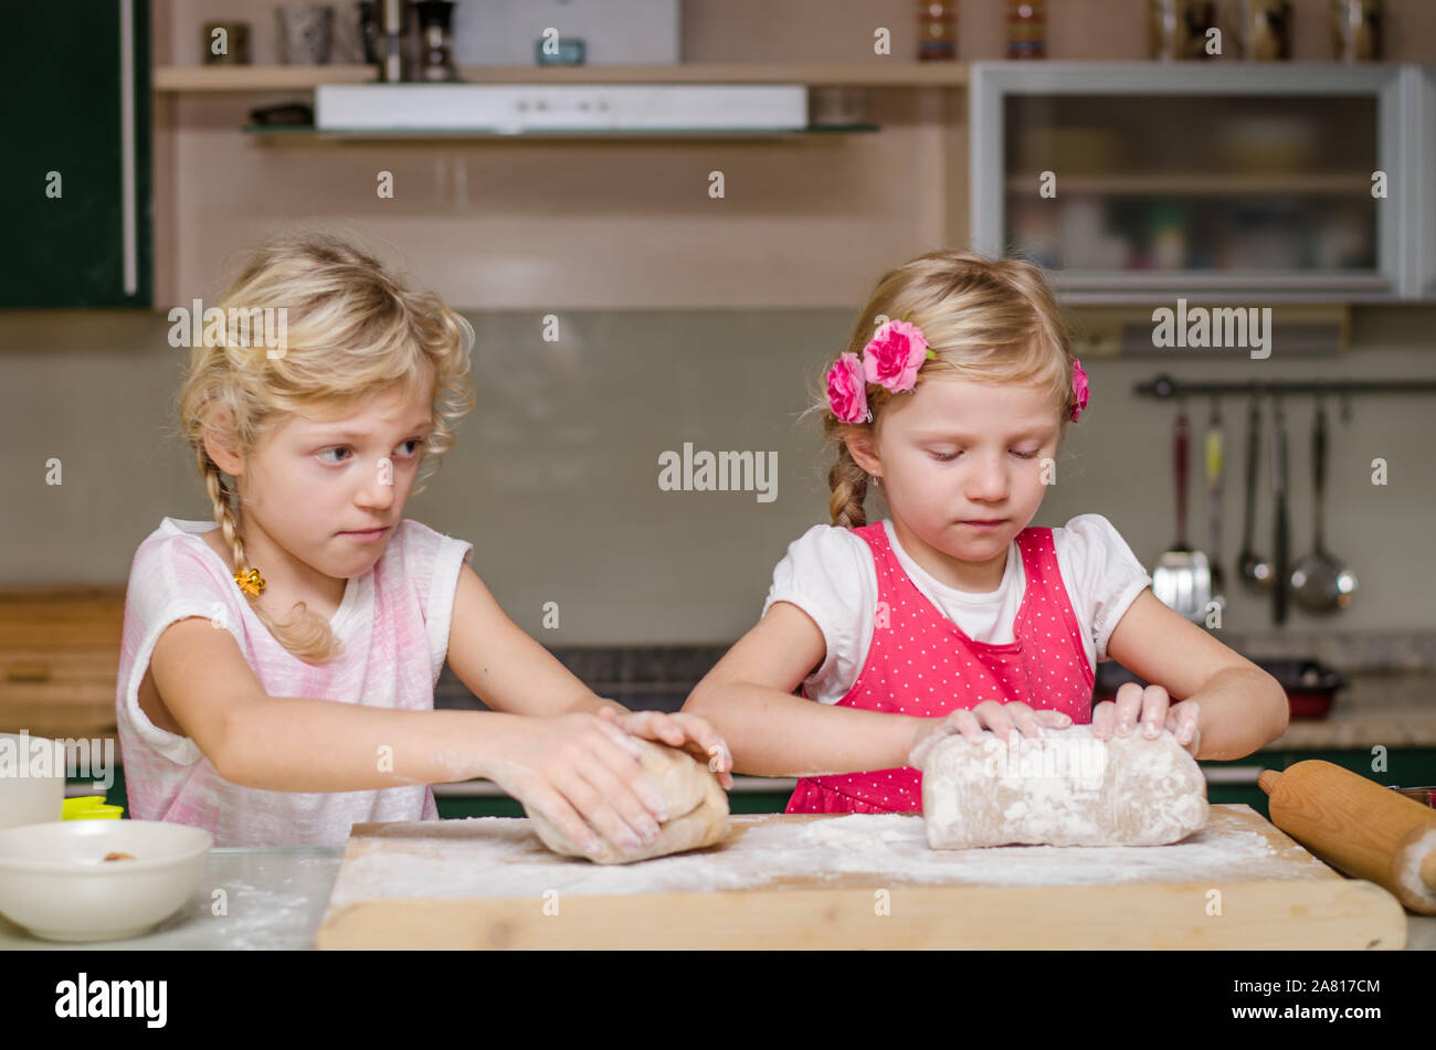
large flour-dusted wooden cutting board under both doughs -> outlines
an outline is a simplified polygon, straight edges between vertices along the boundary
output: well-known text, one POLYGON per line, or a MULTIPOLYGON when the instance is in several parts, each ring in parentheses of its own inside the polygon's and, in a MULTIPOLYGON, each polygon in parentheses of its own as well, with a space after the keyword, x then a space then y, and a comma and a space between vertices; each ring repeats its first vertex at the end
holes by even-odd
POLYGON ((928 848, 922 816, 737 815, 635 865, 520 818, 355 825, 319 948, 1402 948, 1406 914, 1244 805, 1172 846, 928 848))

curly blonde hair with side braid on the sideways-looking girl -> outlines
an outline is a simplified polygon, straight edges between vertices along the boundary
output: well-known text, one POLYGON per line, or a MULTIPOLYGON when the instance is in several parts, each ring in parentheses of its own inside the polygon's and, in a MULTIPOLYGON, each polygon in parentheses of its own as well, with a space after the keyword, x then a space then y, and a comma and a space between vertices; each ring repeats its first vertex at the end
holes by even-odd
MULTIPOLYGON (((409 290, 376 258, 339 237, 297 232, 261 245, 217 304, 227 318, 218 346, 191 347, 180 390, 180 426, 194 450, 234 567, 248 567, 238 486, 204 448, 217 435, 248 458, 261 433, 306 409, 339 410, 391 387, 412 394, 434 377, 432 430, 414 493, 454 446, 454 426, 474 407, 468 382, 472 326, 431 293, 409 290), (248 337, 248 316, 284 308, 286 347, 270 356, 248 337), (247 313, 248 311, 248 313, 247 313), (238 318, 244 317, 243 336, 238 318)), ((208 313, 208 311, 207 311, 208 313)), ((296 602, 276 621, 250 608, 284 648, 323 663, 342 650, 319 614, 296 602)))

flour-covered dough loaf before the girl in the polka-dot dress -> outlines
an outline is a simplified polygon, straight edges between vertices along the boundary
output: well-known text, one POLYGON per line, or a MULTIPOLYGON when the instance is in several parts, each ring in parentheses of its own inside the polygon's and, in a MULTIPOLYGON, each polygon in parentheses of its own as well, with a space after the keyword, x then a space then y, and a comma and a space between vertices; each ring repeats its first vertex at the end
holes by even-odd
POLYGON ((1170 732, 1099 740, 1070 726, 1045 740, 1010 750, 985 730, 919 746, 928 845, 1160 846, 1206 826, 1206 777, 1170 732))

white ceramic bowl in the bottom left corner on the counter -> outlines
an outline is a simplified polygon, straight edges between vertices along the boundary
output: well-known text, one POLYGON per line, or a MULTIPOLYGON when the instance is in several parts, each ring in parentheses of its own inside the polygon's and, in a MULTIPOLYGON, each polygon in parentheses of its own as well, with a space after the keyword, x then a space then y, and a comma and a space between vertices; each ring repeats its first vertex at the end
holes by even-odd
POLYGON ((0 831, 0 912, 47 941, 139 937, 185 905, 214 839, 162 820, 56 820, 0 831), (134 861, 105 861, 111 852, 134 861))

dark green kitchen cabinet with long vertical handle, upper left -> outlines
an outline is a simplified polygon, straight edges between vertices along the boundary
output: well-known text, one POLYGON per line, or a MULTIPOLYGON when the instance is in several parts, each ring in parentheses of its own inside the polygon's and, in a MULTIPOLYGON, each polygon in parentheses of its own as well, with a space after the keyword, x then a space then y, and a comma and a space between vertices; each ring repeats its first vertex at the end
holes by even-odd
POLYGON ((149 3, 7 16, 0 307, 149 307, 149 3))

